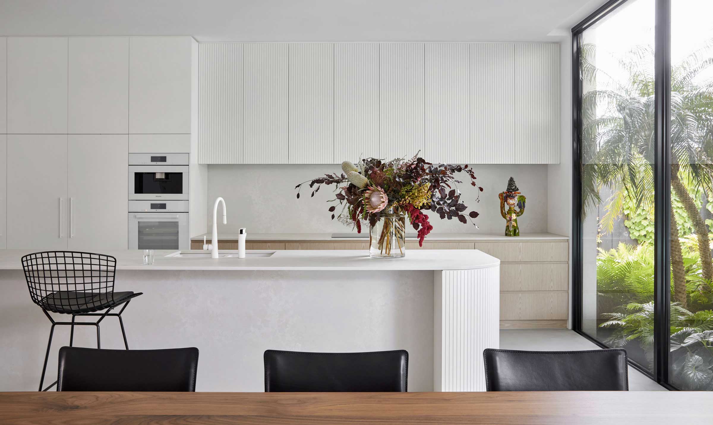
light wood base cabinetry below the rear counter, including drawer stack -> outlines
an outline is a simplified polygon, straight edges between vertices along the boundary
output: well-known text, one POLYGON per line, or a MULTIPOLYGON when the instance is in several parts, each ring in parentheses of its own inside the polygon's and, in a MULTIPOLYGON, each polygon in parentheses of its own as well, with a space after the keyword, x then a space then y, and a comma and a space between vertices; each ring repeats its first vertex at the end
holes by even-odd
MULTIPOLYGON (((202 240, 191 241, 200 250, 202 240)), ((220 240, 221 250, 237 250, 237 240, 220 240)), ((366 240, 256 240, 248 250, 368 250, 366 240)), ((501 260, 501 328, 565 328, 569 312, 567 240, 406 241, 407 250, 481 250, 501 260)))

